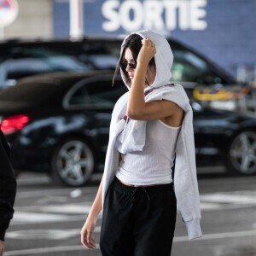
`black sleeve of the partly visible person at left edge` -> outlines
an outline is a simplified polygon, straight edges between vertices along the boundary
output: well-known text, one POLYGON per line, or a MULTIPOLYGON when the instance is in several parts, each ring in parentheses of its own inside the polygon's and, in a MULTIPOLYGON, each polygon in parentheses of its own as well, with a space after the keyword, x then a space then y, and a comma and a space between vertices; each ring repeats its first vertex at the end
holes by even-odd
POLYGON ((14 215, 15 195, 16 180, 10 163, 10 148, 0 130, 0 240, 2 241, 14 215))

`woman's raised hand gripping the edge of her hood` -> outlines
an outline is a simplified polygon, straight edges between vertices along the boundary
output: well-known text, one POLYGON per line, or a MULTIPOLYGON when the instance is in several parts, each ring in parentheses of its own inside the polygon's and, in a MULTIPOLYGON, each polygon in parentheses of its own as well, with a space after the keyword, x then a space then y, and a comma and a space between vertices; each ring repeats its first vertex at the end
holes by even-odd
POLYGON ((148 65, 149 61, 154 57, 156 53, 155 45, 149 38, 143 39, 142 44, 143 47, 137 56, 137 63, 148 65))

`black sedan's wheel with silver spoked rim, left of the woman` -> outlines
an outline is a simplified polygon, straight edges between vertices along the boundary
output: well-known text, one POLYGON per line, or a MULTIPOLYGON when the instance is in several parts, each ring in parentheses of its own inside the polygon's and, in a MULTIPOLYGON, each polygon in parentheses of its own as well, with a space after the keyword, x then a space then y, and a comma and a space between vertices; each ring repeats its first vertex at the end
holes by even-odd
POLYGON ((69 186, 81 186, 90 180, 95 168, 95 156, 81 138, 69 138, 55 149, 52 176, 69 186))

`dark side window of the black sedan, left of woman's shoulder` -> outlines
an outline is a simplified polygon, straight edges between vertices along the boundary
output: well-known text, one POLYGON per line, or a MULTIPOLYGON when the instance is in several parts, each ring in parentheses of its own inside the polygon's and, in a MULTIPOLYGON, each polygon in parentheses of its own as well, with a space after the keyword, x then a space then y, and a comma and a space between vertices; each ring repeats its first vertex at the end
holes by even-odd
POLYGON ((117 79, 112 86, 112 79, 84 80, 74 86, 64 101, 67 108, 79 108, 93 105, 95 108, 113 108, 120 96, 127 91, 125 84, 117 79))

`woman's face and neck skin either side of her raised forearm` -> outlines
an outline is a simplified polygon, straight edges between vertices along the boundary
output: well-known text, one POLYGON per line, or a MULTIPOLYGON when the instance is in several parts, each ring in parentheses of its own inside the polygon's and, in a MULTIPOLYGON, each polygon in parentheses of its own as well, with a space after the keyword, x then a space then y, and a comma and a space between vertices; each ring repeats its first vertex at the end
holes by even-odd
MULTIPOLYGON (((135 70, 136 70, 136 67, 135 68, 132 67, 133 66, 132 64, 136 64, 136 61, 133 60, 131 49, 127 48, 125 50, 124 59, 125 59, 124 60, 125 63, 127 64, 125 70, 128 73, 128 76, 129 76, 129 78, 131 79, 131 82, 132 82, 132 80, 134 79, 134 74, 135 74, 135 70)), ((145 87, 154 83, 155 75, 156 75, 155 68, 148 66, 147 77, 145 78, 145 79, 147 79, 148 84, 145 83, 145 87)))

